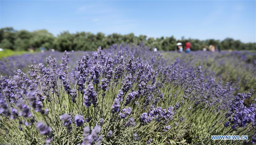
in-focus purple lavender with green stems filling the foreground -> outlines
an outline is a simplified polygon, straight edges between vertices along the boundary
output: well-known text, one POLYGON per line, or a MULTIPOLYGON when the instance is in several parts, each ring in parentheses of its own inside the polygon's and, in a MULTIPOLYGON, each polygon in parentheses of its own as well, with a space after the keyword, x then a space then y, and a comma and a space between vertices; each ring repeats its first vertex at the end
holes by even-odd
MULTIPOLYGON (((235 143, 256 143, 253 90, 233 95, 237 86, 215 81, 210 66, 149 50, 122 44, 62 58, 56 52, 46 61, 26 57, 28 72, 0 79, 0 143, 231 143, 211 135, 248 135, 235 143)), ((8 59, 1 68, 23 65, 22 56, 8 59)))

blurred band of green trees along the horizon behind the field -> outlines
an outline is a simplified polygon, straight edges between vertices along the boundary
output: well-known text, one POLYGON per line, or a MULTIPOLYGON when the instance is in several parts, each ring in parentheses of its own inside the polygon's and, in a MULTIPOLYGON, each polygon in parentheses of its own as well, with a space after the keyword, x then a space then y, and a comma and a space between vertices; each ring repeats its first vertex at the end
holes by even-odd
POLYGON ((12 27, 0 29, 0 47, 11 50, 28 50, 30 47, 40 49, 44 47, 46 50, 90 51, 96 50, 98 46, 108 48, 108 46, 113 44, 139 44, 143 42, 151 48, 170 51, 176 50, 177 42, 181 42, 184 45, 187 40, 191 42, 191 50, 202 50, 205 45, 209 46, 210 44, 214 44, 220 50, 256 50, 256 43, 243 43, 232 38, 226 38, 222 41, 214 39, 184 39, 184 37, 182 39, 175 39, 173 36, 148 38, 146 35, 135 36, 133 33, 127 35, 117 33, 105 35, 100 32, 93 34, 90 32, 69 33, 68 31, 64 31, 55 37, 45 29, 32 32, 26 30, 17 31, 12 27))

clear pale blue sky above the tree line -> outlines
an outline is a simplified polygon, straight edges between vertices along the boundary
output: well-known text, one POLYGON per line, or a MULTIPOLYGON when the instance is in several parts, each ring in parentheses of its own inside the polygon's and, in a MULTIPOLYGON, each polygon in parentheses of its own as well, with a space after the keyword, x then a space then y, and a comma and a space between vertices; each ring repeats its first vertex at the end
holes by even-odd
POLYGON ((0 1, 0 27, 255 42, 255 1, 0 1))

